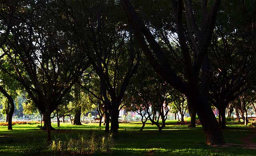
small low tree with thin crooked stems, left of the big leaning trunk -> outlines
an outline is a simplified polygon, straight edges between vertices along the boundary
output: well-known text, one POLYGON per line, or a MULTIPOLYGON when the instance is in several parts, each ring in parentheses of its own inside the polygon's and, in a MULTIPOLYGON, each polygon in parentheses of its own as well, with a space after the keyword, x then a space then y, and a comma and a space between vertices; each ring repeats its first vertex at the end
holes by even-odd
POLYGON ((165 127, 165 121, 170 111, 168 104, 173 100, 170 96, 173 92, 170 85, 154 73, 146 60, 142 60, 138 73, 132 79, 128 90, 132 107, 142 116, 142 128, 146 123, 143 118, 146 120, 149 118, 152 124, 155 124, 161 132, 165 127), (157 112, 158 116, 156 115, 157 112), (160 119, 162 124, 160 124, 160 119))

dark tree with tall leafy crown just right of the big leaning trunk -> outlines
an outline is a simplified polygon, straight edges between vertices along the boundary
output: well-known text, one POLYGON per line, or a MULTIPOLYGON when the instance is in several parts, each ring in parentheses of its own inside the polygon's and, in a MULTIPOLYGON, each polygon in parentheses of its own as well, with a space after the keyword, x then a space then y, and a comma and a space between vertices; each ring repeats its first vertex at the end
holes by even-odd
POLYGON ((219 124, 226 128, 226 108, 248 89, 255 76, 255 52, 252 32, 246 30, 248 19, 243 18, 247 12, 244 6, 240 2, 224 2, 222 8, 225 11, 220 12, 209 48, 212 69, 210 96, 212 104, 220 112, 219 124))

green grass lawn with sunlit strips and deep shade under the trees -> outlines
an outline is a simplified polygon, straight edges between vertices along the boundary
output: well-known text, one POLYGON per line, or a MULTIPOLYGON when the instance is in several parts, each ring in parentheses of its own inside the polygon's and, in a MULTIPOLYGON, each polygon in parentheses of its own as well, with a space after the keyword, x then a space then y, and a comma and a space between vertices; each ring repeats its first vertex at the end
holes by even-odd
MULTIPOLYGON (((226 143, 232 146, 213 147, 205 144, 202 126, 188 128, 186 125, 174 125, 174 122, 176 121, 168 121, 161 133, 149 123, 142 132, 139 131, 140 122, 120 123, 114 148, 109 155, 256 155, 256 149, 239 146, 256 144, 256 128, 232 122, 227 130, 223 130, 226 143)), ((92 132, 105 134, 104 126, 99 127, 96 123, 83 126, 61 123, 61 127, 53 123, 52 126, 56 128, 52 131, 52 139, 64 138, 65 134, 71 138, 92 132)), ((46 132, 39 130, 37 124, 13 125, 13 130, 0 126, 0 156, 51 154, 46 142, 46 132)))

